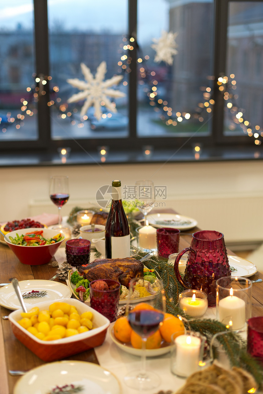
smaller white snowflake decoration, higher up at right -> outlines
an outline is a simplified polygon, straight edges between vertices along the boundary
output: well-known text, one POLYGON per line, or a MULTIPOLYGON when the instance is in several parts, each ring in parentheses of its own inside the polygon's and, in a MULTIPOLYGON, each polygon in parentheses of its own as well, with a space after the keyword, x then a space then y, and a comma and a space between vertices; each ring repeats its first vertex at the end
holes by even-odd
POLYGON ((177 35, 178 33, 162 31, 162 36, 159 39, 153 38, 153 42, 155 44, 151 45, 151 47, 156 51, 154 58, 156 63, 165 61, 170 66, 173 64, 172 55, 176 55, 178 53, 175 49, 177 48, 177 44, 175 43, 177 35))

